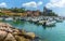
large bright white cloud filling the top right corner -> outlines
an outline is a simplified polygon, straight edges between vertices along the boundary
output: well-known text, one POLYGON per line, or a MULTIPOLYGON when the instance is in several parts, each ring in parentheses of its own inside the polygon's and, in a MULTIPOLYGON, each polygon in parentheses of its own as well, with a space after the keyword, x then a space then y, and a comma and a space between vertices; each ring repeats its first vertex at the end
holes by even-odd
POLYGON ((49 3, 46 4, 47 8, 65 8, 65 0, 50 0, 49 3))

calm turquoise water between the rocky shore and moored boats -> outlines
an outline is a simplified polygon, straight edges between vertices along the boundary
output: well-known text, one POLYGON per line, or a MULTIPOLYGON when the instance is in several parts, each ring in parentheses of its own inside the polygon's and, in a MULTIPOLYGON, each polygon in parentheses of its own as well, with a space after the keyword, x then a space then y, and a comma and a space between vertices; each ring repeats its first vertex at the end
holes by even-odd
POLYGON ((56 23, 55 27, 43 27, 28 22, 4 22, 16 28, 35 32, 42 41, 65 41, 65 22, 56 23))

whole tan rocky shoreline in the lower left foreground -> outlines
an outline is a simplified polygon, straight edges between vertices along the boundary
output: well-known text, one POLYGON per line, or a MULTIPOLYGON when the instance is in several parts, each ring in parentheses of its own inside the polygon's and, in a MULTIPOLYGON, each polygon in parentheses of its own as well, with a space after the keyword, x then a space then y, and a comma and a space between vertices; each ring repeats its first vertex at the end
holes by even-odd
POLYGON ((38 37, 34 32, 26 32, 10 24, 0 23, 0 41, 36 41, 36 38, 38 37))

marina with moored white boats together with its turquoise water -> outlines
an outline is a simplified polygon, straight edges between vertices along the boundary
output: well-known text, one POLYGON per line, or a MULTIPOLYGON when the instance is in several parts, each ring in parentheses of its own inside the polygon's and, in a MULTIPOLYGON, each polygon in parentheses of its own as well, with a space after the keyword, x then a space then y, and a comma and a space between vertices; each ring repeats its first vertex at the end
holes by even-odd
MULTIPOLYGON (((24 18, 6 17, 6 18, 1 18, 0 22, 11 24, 13 27, 18 29, 23 29, 29 32, 35 32, 35 35, 38 36, 40 38, 39 40, 41 41, 54 41, 54 40, 60 41, 57 40, 61 39, 60 35, 63 38, 63 32, 60 32, 60 30, 64 29, 65 20, 56 22, 55 19, 56 18, 48 17, 48 16, 47 17, 39 16, 35 18, 34 17, 24 17, 24 18)), ((61 39, 61 41, 63 39, 61 39)))

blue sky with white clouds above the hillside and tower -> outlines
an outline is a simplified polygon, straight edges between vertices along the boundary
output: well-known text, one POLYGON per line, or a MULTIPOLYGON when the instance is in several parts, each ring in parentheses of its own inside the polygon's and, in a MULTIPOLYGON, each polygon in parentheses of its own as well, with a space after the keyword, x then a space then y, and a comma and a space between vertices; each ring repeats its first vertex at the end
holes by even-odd
POLYGON ((0 8, 25 8, 43 11, 43 6, 65 16, 65 0, 0 0, 0 8))

